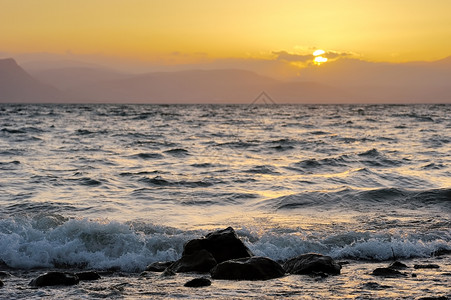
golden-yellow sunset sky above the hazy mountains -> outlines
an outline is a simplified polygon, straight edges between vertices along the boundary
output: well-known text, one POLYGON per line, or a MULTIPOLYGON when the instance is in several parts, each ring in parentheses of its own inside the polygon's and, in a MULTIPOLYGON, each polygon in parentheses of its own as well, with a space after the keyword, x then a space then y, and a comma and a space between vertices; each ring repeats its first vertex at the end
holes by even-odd
POLYGON ((450 0, 0 0, 0 52, 166 65, 451 55, 450 0))

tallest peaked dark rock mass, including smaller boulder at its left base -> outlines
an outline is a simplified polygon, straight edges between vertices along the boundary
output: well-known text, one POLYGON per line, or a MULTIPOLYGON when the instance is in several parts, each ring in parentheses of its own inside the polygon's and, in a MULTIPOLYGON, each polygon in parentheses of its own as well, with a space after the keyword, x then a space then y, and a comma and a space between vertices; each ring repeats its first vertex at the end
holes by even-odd
POLYGON ((252 252, 232 227, 209 233, 205 238, 188 241, 182 257, 168 269, 174 272, 208 272, 226 260, 251 257, 252 252))

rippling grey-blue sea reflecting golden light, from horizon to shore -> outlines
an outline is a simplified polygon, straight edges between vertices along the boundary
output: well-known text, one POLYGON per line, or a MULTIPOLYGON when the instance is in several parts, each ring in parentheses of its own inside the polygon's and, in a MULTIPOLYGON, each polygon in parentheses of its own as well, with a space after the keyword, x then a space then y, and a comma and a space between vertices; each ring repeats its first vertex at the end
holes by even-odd
POLYGON ((450 299, 450 252, 449 104, 0 105, 1 299, 450 299), (143 273, 229 226, 341 275, 143 273), (102 278, 28 285, 54 270, 102 278))

